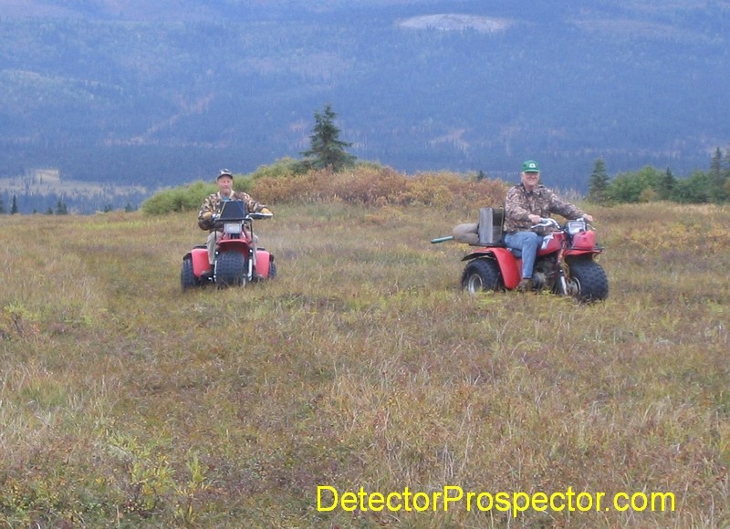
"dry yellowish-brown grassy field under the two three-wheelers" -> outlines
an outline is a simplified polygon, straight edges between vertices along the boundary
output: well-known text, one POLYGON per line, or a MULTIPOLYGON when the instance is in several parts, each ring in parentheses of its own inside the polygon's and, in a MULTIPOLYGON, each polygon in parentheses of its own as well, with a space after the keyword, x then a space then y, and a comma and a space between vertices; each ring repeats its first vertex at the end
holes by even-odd
POLYGON ((462 293, 475 207, 273 209, 276 280, 186 293, 194 213, 3 217, 0 526, 730 525, 730 210, 590 208, 583 306, 462 293))

